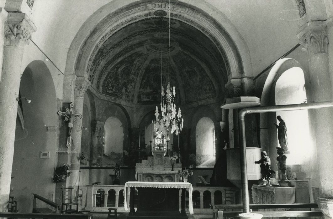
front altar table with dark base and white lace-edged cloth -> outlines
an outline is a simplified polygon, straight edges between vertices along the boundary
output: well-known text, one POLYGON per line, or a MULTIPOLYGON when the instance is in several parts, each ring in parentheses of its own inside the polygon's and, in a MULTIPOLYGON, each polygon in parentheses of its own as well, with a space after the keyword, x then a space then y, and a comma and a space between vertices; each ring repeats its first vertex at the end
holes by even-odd
POLYGON ((188 190, 188 210, 193 214, 192 191, 188 182, 126 182, 124 187, 124 207, 127 206, 127 188, 130 188, 130 213, 128 218, 187 218, 185 211, 185 190, 188 190), (134 209, 134 191, 138 189, 138 209, 134 209), (181 189, 181 210, 179 212, 179 190, 181 189), (147 195, 150 194, 150 195, 147 195))

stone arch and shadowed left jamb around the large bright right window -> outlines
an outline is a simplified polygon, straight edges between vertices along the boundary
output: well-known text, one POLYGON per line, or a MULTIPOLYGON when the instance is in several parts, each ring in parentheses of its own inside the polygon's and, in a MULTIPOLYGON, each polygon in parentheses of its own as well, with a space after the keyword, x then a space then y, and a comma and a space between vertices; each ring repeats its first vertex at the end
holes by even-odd
MULTIPOLYGON (((261 94, 261 106, 275 106, 275 86, 276 81, 282 75, 283 72, 292 68, 299 67, 304 72, 305 86, 308 84, 309 78, 304 71, 301 64, 292 58, 282 58, 278 60, 275 65, 271 68, 263 90, 261 94)), ((306 93, 311 93, 311 88, 306 86, 306 93)), ((308 96, 308 95, 307 95, 308 96)), ((263 150, 266 150, 268 154, 275 155, 275 147, 278 144, 276 128, 272 126, 276 122, 276 113, 260 113, 260 145, 263 150), (268 141, 269 136, 271 136, 270 141, 268 141)), ((272 166, 276 165, 276 160, 271 159, 272 166)))

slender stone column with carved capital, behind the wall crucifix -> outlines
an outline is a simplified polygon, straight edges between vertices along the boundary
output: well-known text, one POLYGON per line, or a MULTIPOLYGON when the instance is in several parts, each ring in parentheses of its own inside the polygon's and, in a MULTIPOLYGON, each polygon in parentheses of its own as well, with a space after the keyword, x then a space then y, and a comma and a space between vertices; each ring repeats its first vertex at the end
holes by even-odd
MULTIPOLYGON (((77 77, 75 81, 75 98, 74 109, 75 114, 83 114, 84 94, 90 86, 90 82, 85 77, 77 77)), ((82 119, 77 118, 72 129, 72 145, 71 145, 71 169, 69 184, 77 186, 79 183, 80 170, 80 152, 81 152, 81 136, 82 136, 82 119)))

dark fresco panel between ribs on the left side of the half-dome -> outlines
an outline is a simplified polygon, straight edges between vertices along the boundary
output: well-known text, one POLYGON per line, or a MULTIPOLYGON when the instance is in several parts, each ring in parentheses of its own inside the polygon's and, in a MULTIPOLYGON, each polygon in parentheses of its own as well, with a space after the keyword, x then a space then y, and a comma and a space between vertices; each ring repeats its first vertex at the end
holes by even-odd
POLYGON ((146 59, 147 55, 136 52, 118 62, 103 81, 102 93, 133 101, 138 74, 146 59))

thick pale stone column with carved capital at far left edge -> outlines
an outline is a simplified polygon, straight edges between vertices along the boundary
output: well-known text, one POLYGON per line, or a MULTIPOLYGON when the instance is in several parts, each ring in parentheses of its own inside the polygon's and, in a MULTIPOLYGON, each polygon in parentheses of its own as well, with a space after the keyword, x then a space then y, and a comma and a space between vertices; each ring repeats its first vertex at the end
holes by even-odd
POLYGON ((0 83, 0 211, 7 212, 23 49, 35 25, 26 14, 8 13, 0 83))

